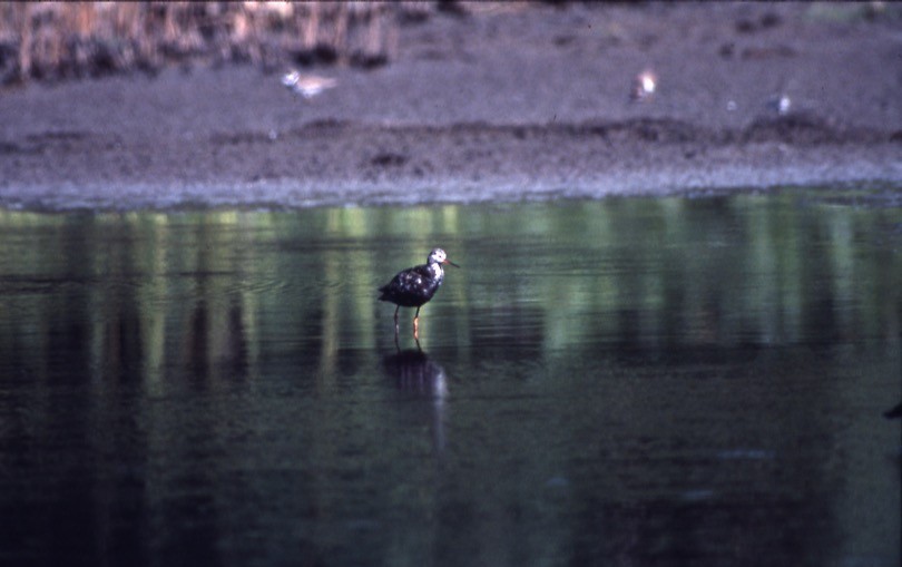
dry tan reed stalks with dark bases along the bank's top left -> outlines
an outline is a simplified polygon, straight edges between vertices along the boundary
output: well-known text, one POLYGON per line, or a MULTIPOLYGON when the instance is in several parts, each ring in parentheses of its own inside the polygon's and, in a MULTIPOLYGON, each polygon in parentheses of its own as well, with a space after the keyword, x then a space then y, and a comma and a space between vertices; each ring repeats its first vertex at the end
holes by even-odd
POLYGON ((1 2, 0 82, 170 63, 375 67, 434 2, 1 2))

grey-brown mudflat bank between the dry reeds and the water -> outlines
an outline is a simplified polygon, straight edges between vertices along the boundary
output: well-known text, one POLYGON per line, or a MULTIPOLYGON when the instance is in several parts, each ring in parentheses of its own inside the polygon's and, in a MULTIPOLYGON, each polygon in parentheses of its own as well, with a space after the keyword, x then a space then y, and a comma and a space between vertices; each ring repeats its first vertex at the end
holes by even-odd
POLYGON ((519 201, 902 186, 902 21, 846 4, 504 4, 401 27, 392 62, 0 92, 0 206, 519 201), (657 89, 630 100, 650 69, 657 89), (776 97, 790 101, 781 113, 776 97))

